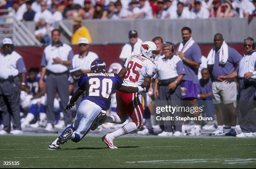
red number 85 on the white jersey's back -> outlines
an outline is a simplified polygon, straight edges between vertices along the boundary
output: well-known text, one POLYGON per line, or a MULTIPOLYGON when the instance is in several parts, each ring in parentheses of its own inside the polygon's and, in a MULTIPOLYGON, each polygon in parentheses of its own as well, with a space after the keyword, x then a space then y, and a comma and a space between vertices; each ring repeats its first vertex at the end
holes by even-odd
POLYGON ((143 66, 138 64, 137 62, 133 62, 132 60, 130 60, 127 64, 127 72, 125 75, 125 79, 127 79, 129 77, 129 80, 131 82, 138 82, 138 78, 140 77, 140 73, 138 72, 138 70, 136 70, 136 67, 138 67, 139 69, 141 69, 143 66), (132 75, 131 74, 131 70, 132 70, 132 75), (133 75, 136 75, 135 79, 133 78, 133 75))

